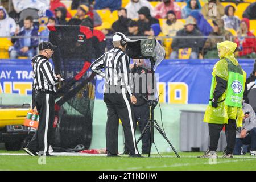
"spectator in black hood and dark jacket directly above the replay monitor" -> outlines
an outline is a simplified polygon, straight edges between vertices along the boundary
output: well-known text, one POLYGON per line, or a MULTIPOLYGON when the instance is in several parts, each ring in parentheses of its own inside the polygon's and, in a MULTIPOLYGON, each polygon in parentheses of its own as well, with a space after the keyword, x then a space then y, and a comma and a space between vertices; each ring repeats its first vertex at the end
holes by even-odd
POLYGON ((150 15, 150 9, 148 9, 148 7, 142 7, 141 9, 139 9, 138 11, 139 13, 139 20, 138 20, 138 24, 139 24, 139 31, 144 32, 145 28, 150 27, 151 24, 159 24, 159 20, 153 18, 150 15))

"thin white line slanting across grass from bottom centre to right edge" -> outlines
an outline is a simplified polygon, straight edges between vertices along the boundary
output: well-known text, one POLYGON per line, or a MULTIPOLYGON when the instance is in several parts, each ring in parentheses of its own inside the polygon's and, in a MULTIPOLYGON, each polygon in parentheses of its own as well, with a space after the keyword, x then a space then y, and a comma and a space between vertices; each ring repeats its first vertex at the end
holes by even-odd
MULTIPOLYGON (((254 159, 244 159, 244 160, 223 160, 223 161, 217 161, 217 164, 221 164, 221 163, 231 163, 231 162, 243 162, 243 161, 250 161, 250 160, 254 160, 254 159)), ((131 167, 131 168, 127 168, 126 170, 139 170, 139 169, 154 169, 154 168, 170 168, 170 167, 182 167, 182 166, 197 166, 197 165, 205 165, 205 164, 209 164, 209 162, 206 163, 175 163, 172 165, 163 165, 163 166, 146 166, 146 167, 131 167)), ((216 165, 217 165, 216 164, 216 165)), ((210 166, 214 166, 214 165, 210 165, 210 166)), ((111 171, 111 169, 109 169, 111 171)))

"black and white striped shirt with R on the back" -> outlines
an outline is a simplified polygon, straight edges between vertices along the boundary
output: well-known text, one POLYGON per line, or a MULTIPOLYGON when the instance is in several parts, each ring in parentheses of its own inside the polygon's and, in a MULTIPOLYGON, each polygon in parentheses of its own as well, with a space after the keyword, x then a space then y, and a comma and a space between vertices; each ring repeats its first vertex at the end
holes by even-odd
POLYGON ((90 68, 97 75, 104 77, 107 85, 122 85, 125 86, 127 92, 132 95, 131 75, 130 75, 130 60, 122 49, 114 47, 108 52, 105 52, 101 57, 95 60, 90 68), (102 69, 105 72, 102 72, 102 69))

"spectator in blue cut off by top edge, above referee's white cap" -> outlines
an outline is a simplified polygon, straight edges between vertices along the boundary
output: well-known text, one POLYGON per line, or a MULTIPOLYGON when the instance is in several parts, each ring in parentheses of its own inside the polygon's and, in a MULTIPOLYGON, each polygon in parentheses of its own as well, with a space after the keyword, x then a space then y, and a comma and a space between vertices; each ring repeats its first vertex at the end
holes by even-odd
POLYGON ((94 9, 109 9, 110 11, 118 10, 122 5, 121 0, 95 0, 94 9))

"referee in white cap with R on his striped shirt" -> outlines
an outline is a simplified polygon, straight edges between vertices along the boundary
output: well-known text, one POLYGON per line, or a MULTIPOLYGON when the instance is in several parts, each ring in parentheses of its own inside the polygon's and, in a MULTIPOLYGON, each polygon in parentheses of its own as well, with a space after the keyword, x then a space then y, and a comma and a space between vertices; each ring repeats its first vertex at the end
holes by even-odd
POLYGON ((108 109, 106 123, 107 156, 118 156, 118 123, 122 121, 125 142, 129 156, 141 157, 135 141, 133 105, 137 102, 133 95, 130 77, 130 61, 124 52, 130 40, 120 32, 113 36, 114 48, 95 60, 90 68, 105 78, 104 102, 108 109), (104 69, 104 72, 102 71, 104 69))

